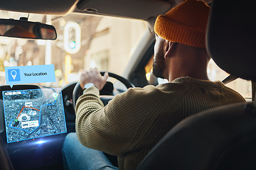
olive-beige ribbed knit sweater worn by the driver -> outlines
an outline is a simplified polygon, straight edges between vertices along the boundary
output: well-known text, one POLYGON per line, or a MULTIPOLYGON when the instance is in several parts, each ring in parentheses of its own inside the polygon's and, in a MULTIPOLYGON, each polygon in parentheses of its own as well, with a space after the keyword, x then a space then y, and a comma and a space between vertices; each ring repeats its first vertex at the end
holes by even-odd
POLYGON ((118 156, 119 169, 136 169, 164 135, 184 118, 209 108, 245 102, 220 81, 181 77, 128 89, 104 107, 91 87, 75 108, 76 133, 86 147, 118 156))

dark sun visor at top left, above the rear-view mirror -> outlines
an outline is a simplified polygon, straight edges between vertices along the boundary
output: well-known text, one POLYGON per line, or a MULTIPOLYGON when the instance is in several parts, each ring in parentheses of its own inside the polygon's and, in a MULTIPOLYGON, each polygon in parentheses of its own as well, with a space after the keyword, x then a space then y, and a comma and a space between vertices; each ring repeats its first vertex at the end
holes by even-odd
POLYGON ((6 0, 1 1, 0 10, 63 16, 73 11, 77 3, 78 0, 6 0))

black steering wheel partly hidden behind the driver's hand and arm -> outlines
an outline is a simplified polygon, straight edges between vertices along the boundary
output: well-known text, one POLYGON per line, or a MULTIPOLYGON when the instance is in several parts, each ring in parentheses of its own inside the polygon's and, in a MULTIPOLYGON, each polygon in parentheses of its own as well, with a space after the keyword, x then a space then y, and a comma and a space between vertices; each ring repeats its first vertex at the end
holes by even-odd
MULTIPOLYGON (((100 74, 103 76, 105 74, 105 72, 100 72, 100 74)), ((127 87, 127 89, 129 89, 130 87, 135 87, 134 84, 132 84, 132 82, 130 82, 129 80, 125 79, 124 77, 121 77, 117 74, 114 74, 112 72, 108 72, 109 74, 109 77, 112 77, 114 79, 117 79, 118 81, 120 81, 122 84, 124 84, 124 86, 127 87)), ((110 83, 109 81, 107 81, 107 84, 105 84, 105 86, 103 87, 103 89, 106 91, 107 89, 109 89, 109 91, 112 91, 113 90, 113 87, 110 88, 110 86, 112 87, 112 83, 110 83), (108 86, 108 87, 107 87, 108 86)), ((102 89, 102 90, 103 90, 102 89)), ((101 90, 101 91, 102 91, 101 90)), ((75 84, 75 88, 73 90, 73 106, 75 108, 75 104, 76 102, 78 101, 78 98, 82 95, 82 88, 80 86, 80 83, 78 81, 77 84, 75 84)), ((107 93, 108 96, 112 96, 110 98, 103 98, 103 97, 100 97, 100 99, 102 100, 102 102, 104 104, 108 103, 108 101, 110 101, 112 98, 113 98, 113 95, 112 95, 112 92, 110 93, 107 93)))

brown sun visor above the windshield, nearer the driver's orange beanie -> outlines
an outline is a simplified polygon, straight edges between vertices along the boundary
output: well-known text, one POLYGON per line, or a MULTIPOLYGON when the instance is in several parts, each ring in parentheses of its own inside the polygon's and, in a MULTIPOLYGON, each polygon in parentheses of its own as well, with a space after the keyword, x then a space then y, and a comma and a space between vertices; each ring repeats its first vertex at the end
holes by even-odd
POLYGON ((77 11, 89 14, 146 19, 169 11, 171 4, 161 0, 83 0, 77 11))

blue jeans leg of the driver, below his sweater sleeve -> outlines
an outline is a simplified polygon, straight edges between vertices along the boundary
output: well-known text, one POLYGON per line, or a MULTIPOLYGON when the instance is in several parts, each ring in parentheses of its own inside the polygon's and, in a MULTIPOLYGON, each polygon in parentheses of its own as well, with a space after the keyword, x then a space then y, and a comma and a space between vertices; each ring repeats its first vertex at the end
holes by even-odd
POLYGON ((63 143, 65 169, 117 170, 103 152, 80 144, 75 132, 68 134, 63 143))

